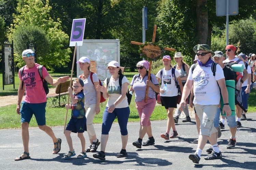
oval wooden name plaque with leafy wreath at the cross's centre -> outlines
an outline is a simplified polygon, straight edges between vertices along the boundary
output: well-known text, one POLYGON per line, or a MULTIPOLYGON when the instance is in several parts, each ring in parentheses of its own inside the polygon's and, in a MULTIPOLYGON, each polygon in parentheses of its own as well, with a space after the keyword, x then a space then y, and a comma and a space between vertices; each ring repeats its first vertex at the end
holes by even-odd
POLYGON ((145 42, 140 45, 140 56, 147 58, 148 61, 160 60, 165 54, 165 48, 161 43, 145 42))

